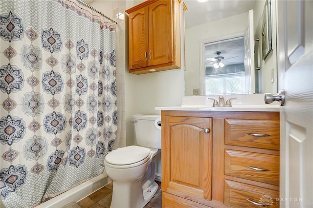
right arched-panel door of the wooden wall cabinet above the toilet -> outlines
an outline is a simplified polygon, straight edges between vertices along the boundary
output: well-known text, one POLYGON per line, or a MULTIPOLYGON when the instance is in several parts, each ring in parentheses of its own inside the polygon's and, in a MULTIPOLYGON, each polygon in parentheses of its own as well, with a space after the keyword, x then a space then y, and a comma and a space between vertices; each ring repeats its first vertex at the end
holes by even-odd
POLYGON ((173 60, 173 3, 159 0, 149 5, 149 65, 173 60))

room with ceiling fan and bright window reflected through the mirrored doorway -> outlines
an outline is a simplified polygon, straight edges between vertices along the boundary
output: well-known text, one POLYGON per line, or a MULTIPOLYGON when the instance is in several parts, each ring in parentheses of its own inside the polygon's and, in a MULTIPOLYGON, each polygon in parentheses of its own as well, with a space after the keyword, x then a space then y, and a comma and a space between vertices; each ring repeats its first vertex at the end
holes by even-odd
POLYGON ((245 94, 244 37, 204 45, 205 95, 245 94))

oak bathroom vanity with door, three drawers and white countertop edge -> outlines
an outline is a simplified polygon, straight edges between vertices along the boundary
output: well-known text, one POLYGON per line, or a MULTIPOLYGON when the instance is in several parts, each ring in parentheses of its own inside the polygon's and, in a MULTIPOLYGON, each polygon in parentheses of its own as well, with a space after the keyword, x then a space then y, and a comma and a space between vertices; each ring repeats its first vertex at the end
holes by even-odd
POLYGON ((156 109, 163 208, 279 207, 279 107, 156 109))

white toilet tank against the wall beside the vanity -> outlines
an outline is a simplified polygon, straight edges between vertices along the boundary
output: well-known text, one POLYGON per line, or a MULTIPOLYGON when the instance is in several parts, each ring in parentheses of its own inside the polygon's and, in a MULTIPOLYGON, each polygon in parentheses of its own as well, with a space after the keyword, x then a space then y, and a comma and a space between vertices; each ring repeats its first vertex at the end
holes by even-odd
POLYGON ((133 115, 136 143, 139 146, 161 148, 161 127, 156 123, 160 115, 133 115))

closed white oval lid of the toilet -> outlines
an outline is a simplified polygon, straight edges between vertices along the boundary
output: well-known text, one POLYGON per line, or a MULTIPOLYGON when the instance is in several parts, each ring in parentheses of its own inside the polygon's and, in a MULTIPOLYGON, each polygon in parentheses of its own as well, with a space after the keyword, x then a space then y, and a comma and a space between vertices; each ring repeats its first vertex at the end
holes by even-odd
POLYGON ((105 160, 113 165, 130 165, 144 160, 151 149, 142 146, 125 146, 107 154, 105 160))

